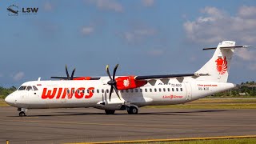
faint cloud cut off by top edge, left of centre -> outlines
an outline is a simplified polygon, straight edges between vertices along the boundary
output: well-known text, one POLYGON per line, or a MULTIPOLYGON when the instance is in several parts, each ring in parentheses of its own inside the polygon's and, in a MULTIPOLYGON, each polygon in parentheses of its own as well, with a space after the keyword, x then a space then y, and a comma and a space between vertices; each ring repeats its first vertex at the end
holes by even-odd
POLYGON ((114 10, 116 12, 123 11, 122 5, 114 0, 87 0, 87 2, 94 4, 102 10, 114 10))

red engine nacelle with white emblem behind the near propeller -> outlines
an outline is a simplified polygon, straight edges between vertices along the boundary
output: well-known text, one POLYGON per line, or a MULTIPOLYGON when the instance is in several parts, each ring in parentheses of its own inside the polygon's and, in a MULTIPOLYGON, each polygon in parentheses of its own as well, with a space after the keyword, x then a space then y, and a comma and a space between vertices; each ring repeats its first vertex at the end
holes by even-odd
POLYGON ((136 80, 134 76, 118 77, 115 78, 118 90, 134 89, 146 85, 145 80, 136 80))

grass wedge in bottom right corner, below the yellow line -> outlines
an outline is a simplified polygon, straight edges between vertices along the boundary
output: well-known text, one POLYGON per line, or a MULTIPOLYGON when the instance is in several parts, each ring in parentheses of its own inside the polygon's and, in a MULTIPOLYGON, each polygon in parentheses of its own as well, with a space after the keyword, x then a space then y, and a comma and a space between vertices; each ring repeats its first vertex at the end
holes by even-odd
POLYGON ((232 139, 214 139, 214 140, 191 140, 178 142, 146 142, 146 144, 253 144, 256 143, 256 138, 232 138, 232 139))

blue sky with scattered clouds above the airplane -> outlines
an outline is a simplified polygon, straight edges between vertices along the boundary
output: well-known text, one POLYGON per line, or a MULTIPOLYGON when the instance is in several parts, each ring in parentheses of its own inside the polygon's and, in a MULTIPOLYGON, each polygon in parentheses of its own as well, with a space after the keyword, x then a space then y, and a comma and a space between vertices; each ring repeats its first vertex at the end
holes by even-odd
POLYGON ((256 81, 256 1, 81 0, 0 3, 0 86, 65 76, 194 73, 233 40, 229 82, 256 81), (9 6, 18 10, 11 15, 9 6), (38 8, 24 13, 22 8, 38 8))

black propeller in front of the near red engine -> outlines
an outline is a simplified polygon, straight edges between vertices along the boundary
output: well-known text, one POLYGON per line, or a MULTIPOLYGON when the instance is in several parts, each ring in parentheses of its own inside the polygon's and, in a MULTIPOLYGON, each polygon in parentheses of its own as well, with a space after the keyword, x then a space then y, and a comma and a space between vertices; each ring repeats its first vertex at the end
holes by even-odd
POLYGON ((121 100, 121 98, 120 98, 120 96, 118 94, 117 82, 115 81, 115 73, 116 73, 117 69, 118 69, 118 64, 114 67, 113 76, 111 77, 110 70, 109 70, 109 65, 106 65, 106 74, 110 78, 110 81, 107 82, 107 84, 111 86, 110 87, 110 100, 111 100, 111 95, 113 93, 113 90, 118 95, 118 98, 121 100))

